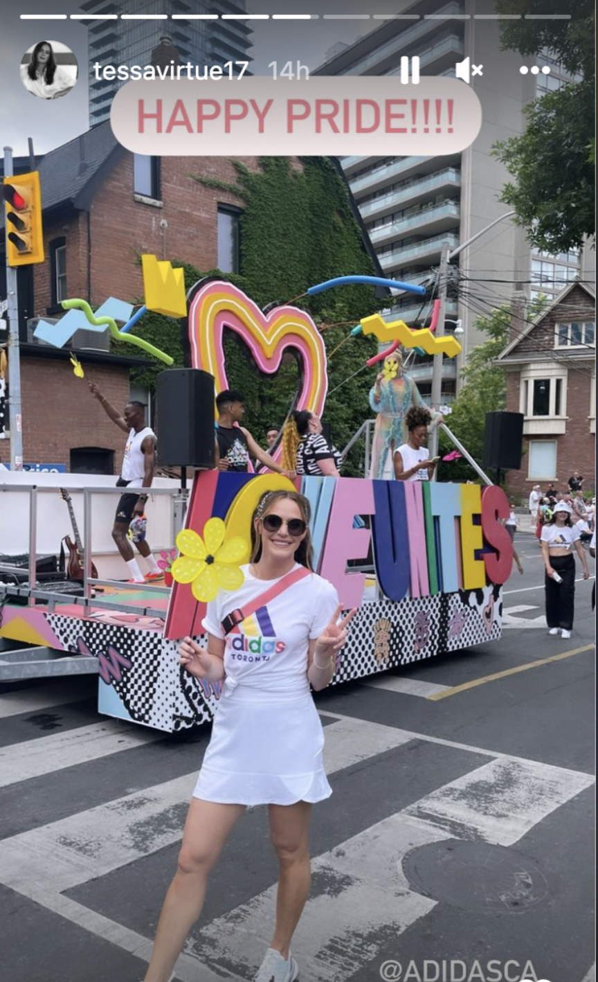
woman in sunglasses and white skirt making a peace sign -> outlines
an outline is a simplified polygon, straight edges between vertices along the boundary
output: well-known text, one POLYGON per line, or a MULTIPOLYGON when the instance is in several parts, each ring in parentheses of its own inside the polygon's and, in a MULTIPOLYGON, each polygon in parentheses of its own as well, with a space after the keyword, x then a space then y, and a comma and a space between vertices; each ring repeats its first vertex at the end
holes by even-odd
POLYGON ((207 650, 190 637, 181 664, 224 682, 185 826, 179 868, 156 932, 145 982, 168 979, 203 906, 208 874, 245 807, 267 804, 280 876, 276 929, 255 982, 294 982, 290 945, 309 891, 311 803, 331 793, 324 735, 309 685, 336 671, 351 611, 311 570, 309 502, 295 491, 262 495, 251 518, 251 563, 235 591, 207 606, 207 650))

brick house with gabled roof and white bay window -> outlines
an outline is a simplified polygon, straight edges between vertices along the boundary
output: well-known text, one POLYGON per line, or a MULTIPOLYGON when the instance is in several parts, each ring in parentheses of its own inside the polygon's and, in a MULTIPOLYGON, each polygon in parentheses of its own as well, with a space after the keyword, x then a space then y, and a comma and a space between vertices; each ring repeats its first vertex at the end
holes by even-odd
POLYGON ((513 308, 512 340, 498 362, 507 409, 524 415, 521 468, 507 475, 522 498, 534 484, 565 487, 573 470, 584 490, 595 488, 595 320, 595 294, 575 281, 529 324, 513 308))

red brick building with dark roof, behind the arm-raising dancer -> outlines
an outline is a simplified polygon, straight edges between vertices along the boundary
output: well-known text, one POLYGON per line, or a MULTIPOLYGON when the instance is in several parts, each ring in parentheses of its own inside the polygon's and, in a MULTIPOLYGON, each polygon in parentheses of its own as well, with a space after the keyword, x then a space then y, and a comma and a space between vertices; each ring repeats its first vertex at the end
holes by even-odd
MULTIPOLYGON (((244 163, 257 167, 254 158, 244 163)), ((131 368, 145 359, 112 355, 107 333, 78 331, 65 349, 52 348, 34 338, 37 318, 59 318, 67 298, 94 307, 110 296, 140 298, 141 252, 237 270, 243 202, 190 177, 200 169, 204 178, 233 184, 236 174, 222 157, 136 156, 117 143, 109 123, 47 153, 38 169, 46 261, 18 270, 24 461, 118 473, 123 434, 74 375, 70 354, 119 408, 147 395, 130 383, 131 368)), ((6 296, 1 238, 0 298, 6 296)), ((10 390, 10 365, 7 377, 10 390)), ((0 439, 0 461, 10 461, 10 439, 0 439)))

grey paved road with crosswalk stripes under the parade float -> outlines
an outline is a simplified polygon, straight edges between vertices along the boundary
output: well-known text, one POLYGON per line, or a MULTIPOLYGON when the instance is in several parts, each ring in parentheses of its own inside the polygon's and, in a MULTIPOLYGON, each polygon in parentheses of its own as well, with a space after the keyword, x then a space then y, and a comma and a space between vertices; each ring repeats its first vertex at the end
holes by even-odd
MULTIPOLYGON (((314 811, 303 982, 595 977, 591 584, 571 640, 548 636, 539 547, 516 545, 500 642, 317 696, 334 794, 314 811)), ((174 870, 209 733, 102 719, 94 687, 3 687, 13 982, 140 980, 174 870)), ((274 912, 265 818, 231 838, 178 979, 252 978, 274 912)))

